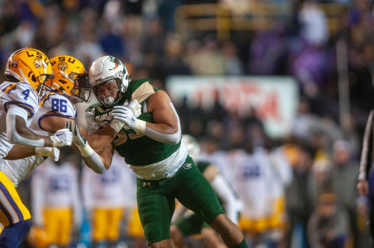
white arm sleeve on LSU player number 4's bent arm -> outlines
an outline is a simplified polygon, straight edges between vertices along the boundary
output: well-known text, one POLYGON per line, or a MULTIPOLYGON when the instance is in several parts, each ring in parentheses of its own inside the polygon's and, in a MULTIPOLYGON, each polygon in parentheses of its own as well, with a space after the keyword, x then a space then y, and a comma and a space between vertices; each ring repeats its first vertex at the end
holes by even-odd
POLYGON ((21 145, 21 146, 31 146, 31 147, 43 147, 44 140, 30 140, 20 136, 17 133, 15 128, 16 126, 16 117, 21 116, 25 122, 27 122, 27 111, 25 112, 24 109, 20 108, 16 105, 10 105, 7 114, 6 114, 6 135, 9 141, 13 144, 21 145), (26 115, 26 118, 25 118, 26 115))

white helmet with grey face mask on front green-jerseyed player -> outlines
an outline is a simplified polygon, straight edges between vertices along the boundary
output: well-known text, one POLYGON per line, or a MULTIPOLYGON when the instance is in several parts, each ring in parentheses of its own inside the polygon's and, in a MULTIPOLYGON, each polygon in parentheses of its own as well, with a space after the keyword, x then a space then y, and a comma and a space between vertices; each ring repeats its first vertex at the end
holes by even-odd
POLYGON ((130 82, 126 66, 113 56, 96 59, 91 65, 88 77, 93 94, 106 107, 113 106, 120 100, 130 82))

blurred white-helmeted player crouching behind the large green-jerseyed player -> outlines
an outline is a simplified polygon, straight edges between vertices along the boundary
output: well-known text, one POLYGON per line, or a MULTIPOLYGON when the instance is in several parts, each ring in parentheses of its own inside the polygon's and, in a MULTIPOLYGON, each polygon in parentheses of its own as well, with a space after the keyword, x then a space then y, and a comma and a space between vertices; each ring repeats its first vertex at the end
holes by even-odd
MULTIPOLYGON (((230 184, 220 175, 217 167, 209 162, 198 160, 200 146, 194 137, 184 134, 182 135, 182 142, 187 146, 188 154, 197 162, 197 168, 199 168, 203 176, 212 185, 227 216, 233 221, 233 223, 237 224, 242 209, 242 203, 237 198, 237 195, 230 184)), ((211 229, 207 223, 193 212, 187 211, 187 208, 178 204, 171 220, 171 239, 178 248, 186 248, 186 244, 184 244, 184 236, 195 235, 198 233, 203 235, 208 248, 226 247, 220 236, 211 229)))

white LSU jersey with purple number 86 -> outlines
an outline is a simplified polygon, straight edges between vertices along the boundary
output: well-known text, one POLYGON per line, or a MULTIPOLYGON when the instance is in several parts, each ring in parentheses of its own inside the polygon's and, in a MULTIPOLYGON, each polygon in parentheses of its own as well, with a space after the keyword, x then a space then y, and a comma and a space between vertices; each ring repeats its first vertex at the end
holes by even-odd
MULTIPOLYGON (((51 92, 46 95, 46 99, 42 102, 39 111, 32 118, 29 128, 36 134, 50 136, 54 133, 49 133, 40 126, 40 122, 43 118, 48 116, 60 116, 73 119, 76 114, 76 108, 66 96, 51 92)), ((0 170, 12 180, 15 186, 17 186, 30 171, 43 161, 44 158, 42 156, 31 156, 18 160, 3 160, 0 162, 0 170)))

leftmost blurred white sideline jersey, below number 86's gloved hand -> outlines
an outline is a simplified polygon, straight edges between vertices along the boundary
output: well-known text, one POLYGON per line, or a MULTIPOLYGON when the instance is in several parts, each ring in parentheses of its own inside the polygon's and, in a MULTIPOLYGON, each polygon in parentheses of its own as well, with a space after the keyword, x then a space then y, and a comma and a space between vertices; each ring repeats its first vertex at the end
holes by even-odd
POLYGON ((80 219, 82 209, 78 188, 78 170, 73 164, 44 162, 31 179, 34 221, 40 224, 43 208, 73 208, 74 219, 80 219))

